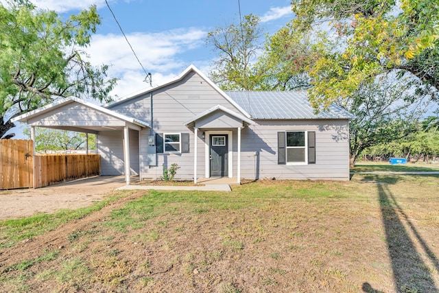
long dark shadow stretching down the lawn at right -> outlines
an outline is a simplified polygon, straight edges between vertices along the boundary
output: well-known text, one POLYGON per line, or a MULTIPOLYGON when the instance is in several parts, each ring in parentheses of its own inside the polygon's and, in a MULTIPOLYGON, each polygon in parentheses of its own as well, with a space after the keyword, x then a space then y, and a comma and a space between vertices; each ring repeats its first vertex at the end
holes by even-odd
MULTIPOLYGON (((383 183, 377 184, 377 189, 396 292, 438 292, 420 253, 424 253, 429 258, 436 270, 439 270, 439 261, 389 188, 390 185, 397 183, 398 177, 368 176, 367 179, 383 183), (410 237, 409 233, 414 236, 410 237), (416 250, 415 239, 420 244, 422 252, 416 250)), ((363 284, 363 291, 379 292, 368 283, 363 284)))

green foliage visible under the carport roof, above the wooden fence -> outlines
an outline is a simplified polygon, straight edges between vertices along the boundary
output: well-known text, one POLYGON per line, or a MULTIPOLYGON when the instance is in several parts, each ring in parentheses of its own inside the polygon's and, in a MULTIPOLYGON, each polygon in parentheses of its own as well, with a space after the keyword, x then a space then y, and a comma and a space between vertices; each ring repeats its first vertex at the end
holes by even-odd
MULTIPOLYGON (((23 131, 30 138, 30 128, 23 131)), ((35 150, 40 153, 49 151, 85 150, 86 134, 67 130, 55 130, 50 128, 36 128, 35 150)), ((95 149, 95 134, 88 134, 88 150, 95 149)))

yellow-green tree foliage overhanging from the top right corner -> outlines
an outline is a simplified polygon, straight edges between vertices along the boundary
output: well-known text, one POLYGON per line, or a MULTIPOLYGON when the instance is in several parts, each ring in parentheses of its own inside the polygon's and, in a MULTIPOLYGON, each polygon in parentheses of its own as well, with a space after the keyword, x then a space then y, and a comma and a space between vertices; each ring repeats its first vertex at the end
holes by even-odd
POLYGON ((322 56, 309 74, 314 106, 348 97, 365 81, 412 75, 416 86, 439 89, 439 5, 431 0, 293 0, 294 30, 312 34, 330 25, 343 45, 322 56), (321 26, 320 26, 321 27, 321 26))

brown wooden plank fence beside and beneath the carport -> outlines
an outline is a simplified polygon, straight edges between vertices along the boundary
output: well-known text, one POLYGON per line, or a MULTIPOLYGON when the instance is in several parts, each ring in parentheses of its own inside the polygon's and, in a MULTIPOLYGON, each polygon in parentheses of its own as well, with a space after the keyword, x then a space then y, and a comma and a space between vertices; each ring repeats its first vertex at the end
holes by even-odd
POLYGON ((32 141, 1 139, 0 142, 0 189, 38 188, 100 173, 98 154, 37 154, 33 157, 32 141))

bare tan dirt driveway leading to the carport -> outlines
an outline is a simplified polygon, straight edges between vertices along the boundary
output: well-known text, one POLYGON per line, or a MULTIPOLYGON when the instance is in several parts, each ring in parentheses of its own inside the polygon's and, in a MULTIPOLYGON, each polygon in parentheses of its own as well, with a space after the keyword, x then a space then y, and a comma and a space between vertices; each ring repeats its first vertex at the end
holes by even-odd
POLYGON ((123 185, 123 176, 96 176, 38 189, 2 190, 0 220, 88 207, 123 185))

